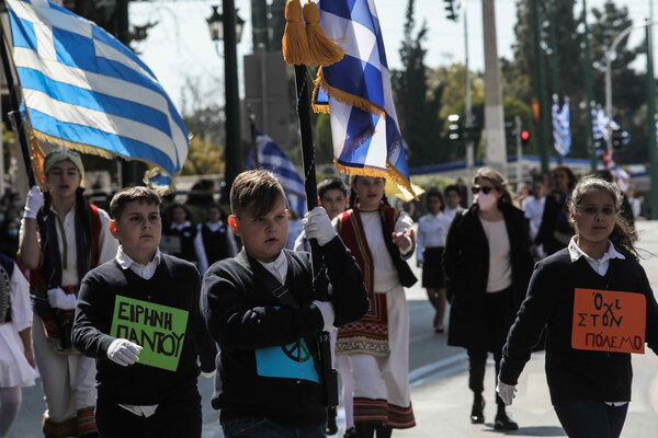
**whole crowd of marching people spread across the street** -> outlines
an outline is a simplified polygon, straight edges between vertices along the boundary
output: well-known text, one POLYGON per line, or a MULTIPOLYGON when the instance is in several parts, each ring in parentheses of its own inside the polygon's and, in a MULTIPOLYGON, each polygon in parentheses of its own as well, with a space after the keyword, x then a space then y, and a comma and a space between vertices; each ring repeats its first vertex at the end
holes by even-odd
POLYGON ((481 168, 470 194, 464 181, 429 189, 417 224, 378 176, 322 180, 319 207, 302 218, 266 170, 238 175, 230 215, 208 181, 184 204, 125 188, 106 212, 84 197, 82 162, 67 149, 43 173, 43 189, 25 203, 7 194, 0 209, 3 237, 15 238, 2 240, 15 262, 0 256, 0 438, 37 377, 45 437, 201 437, 200 376, 215 379, 226 437, 325 437, 338 431, 333 364, 345 438, 413 427, 413 255, 433 332, 466 349, 474 424, 485 423, 488 355, 494 428, 504 431, 519 428, 507 407, 523 366, 545 349, 567 434, 619 437, 629 353, 572 344, 581 289, 640 297, 646 333, 635 335, 658 350, 658 304, 634 249, 642 209, 610 172, 578 181, 560 165, 514 196, 481 168))

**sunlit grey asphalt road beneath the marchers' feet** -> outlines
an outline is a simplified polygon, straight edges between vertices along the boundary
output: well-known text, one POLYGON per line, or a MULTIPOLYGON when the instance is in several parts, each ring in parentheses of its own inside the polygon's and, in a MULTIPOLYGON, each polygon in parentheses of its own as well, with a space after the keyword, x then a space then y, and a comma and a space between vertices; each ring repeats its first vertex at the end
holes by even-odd
MULTIPOLYGON (((658 290, 658 221, 638 222, 642 261, 651 287, 658 290), (654 252, 655 254, 651 254, 654 252)), ((420 272, 410 261, 417 276, 420 272)), ((498 434, 492 422, 496 414, 494 400, 495 370, 489 359, 485 382, 485 424, 469 422, 473 396, 468 390, 467 362, 464 349, 449 347, 445 334, 432 330, 433 309, 427 300, 420 281, 407 290, 410 311, 409 379, 411 402, 417 426, 396 430, 394 436, 413 437, 488 437, 498 434)), ((447 316, 446 316, 447 322, 447 316)), ((622 437, 656 436, 658 430, 658 357, 647 349, 646 355, 633 355, 634 382, 633 402, 622 437)), ((220 438, 218 412, 209 405, 213 391, 212 380, 200 378, 200 392, 203 401, 203 437, 220 438)), ((519 437, 561 437, 566 436, 551 406, 548 388, 544 374, 544 355, 534 354, 519 382, 514 404, 508 408, 509 415, 519 423, 520 429, 506 433, 519 437)), ((41 418, 44 412, 39 382, 36 387, 23 390, 23 406, 8 438, 41 437, 41 418)), ((344 413, 339 408, 339 426, 342 436, 344 413)), ((502 435, 502 434, 501 434, 502 435)))

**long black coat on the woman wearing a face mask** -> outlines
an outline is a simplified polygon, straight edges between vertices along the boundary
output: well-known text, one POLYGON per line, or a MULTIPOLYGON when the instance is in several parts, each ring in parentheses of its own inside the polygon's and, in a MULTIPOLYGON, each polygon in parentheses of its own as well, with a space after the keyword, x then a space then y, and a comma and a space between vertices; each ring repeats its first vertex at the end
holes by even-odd
MULTIPOLYGON (((523 211, 509 204, 499 204, 510 240, 512 265, 512 303, 514 313, 527 289, 533 260, 530 254, 527 221, 523 211)), ((449 345, 479 348, 483 345, 480 322, 485 315, 485 293, 489 276, 489 244, 478 218, 479 207, 457 214, 445 241, 443 267, 446 292, 451 300, 449 345)))

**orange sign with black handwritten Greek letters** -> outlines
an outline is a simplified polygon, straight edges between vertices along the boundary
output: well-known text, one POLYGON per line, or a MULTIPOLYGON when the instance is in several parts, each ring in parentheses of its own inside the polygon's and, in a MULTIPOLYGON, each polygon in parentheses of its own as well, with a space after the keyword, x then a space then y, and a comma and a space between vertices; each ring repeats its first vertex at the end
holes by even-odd
POLYGON ((646 318, 642 293, 577 288, 571 347, 644 354, 646 318))

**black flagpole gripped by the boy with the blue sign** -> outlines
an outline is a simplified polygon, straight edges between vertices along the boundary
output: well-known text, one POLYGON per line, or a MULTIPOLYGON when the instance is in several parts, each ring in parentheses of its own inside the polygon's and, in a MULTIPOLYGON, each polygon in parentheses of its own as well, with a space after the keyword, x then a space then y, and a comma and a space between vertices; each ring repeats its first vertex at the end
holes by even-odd
MULTIPOLYGON (((315 148, 310 123, 308 79, 306 76, 306 66, 304 65, 295 65, 295 85, 297 89, 297 117, 299 118, 299 131, 302 134, 302 157, 304 159, 304 188, 306 191, 306 206, 308 211, 310 211, 318 206, 318 187, 315 172, 315 148)), ((327 283, 321 270, 322 257, 319 245, 315 239, 310 239, 309 241, 316 298, 328 300, 327 283)), ((338 373, 331 367, 329 333, 322 332, 320 334, 319 349, 325 405, 328 407, 338 406, 338 373)))

